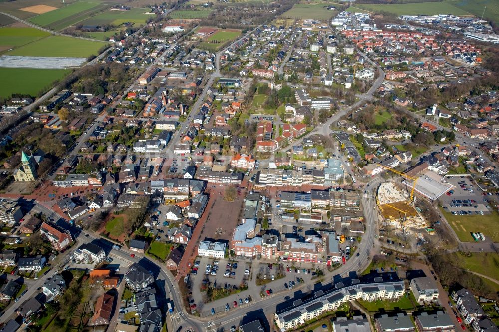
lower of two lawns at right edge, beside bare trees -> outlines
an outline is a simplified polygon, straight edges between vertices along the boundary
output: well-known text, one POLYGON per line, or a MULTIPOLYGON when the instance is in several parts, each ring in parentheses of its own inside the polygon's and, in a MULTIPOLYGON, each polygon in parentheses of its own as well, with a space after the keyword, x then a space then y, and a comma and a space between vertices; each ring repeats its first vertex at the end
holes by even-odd
MULTIPOLYGON (((478 272, 499 280, 499 256, 496 253, 474 252, 471 256, 454 253, 455 262, 463 269, 478 272)), ((498 288, 499 285, 496 285, 498 288)))

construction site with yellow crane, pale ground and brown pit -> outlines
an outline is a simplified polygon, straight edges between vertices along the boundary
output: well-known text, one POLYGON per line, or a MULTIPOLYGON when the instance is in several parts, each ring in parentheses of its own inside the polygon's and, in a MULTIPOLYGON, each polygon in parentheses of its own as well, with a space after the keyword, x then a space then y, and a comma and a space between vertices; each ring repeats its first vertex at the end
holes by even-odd
POLYGON ((393 182, 379 186, 376 202, 384 219, 383 225, 403 230, 426 227, 425 219, 411 205, 413 193, 399 189, 393 182))

